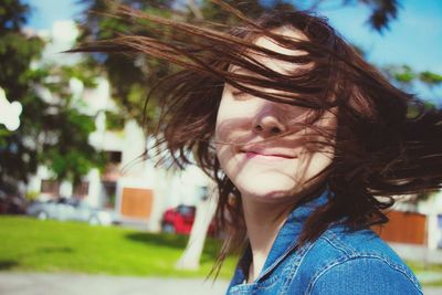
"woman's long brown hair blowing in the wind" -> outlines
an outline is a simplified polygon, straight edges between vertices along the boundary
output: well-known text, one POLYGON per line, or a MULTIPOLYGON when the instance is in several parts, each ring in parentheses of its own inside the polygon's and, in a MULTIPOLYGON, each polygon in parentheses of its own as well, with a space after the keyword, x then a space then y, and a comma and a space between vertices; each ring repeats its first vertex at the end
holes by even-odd
MULTIPOLYGON (((350 229, 385 223, 388 219, 382 210, 392 206, 391 196, 441 188, 440 110, 424 109, 412 95, 392 86, 319 17, 294 11, 250 20, 224 2, 215 2, 243 25, 222 32, 221 24, 193 25, 120 6, 119 17, 149 21, 179 34, 171 34, 167 41, 123 35, 73 51, 138 52, 183 69, 160 81, 151 93, 162 106, 155 135, 158 147, 165 146, 175 164, 183 167, 193 158, 218 183, 217 221, 229 234, 218 270, 229 251, 243 245, 246 233, 240 192, 223 173, 214 151, 217 112, 225 83, 264 99, 309 107, 316 118, 326 109, 338 109, 337 135, 332 138, 318 130, 323 139, 309 143, 334 146, 333 164, 322 175, 326 175, 335 198, 311 214, 299 244, 314 241, 333 222, 350 229), (307 40, 275 34, 274 30, 282 27, 301 31, 307 40), (288 56, 259 48, 253 41, 262 35, 307 54, 288 56), (314 66, 303 73, 282 74, 265 67, 249 52, 314 66), (229 65, 257 75, 234 74, 229 65), (260 92, 256 86, 282 92, 260 92)), ((306 196, 302 202, 315 196, 306 196)))

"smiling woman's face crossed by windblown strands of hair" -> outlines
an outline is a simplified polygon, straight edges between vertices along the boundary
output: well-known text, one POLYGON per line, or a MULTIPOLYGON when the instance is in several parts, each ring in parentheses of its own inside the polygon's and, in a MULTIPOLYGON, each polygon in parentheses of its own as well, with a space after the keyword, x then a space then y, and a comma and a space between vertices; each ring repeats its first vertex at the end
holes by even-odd
MULTIPOLYGON (((275 32, 306 39, 290 29, 282 28, 275 32)), ((255 44, 287 55, 302 54, 266 38, 259 38, 255 44)), ((285 73, 301 70, 299 65, 293 63, 263 56, 257 59, 274 71, 285 73)), ((330 148, 319 150, 304 144, 307 137, 314 139, 319 136, 313 128, 299 127, 299 123, 305 123, 311 114, 308 108, 274 103, 240 93, 230 85, 224 86, 215 127, 217 156, 242 198, 264 202, 292 200, 309 188, 306 183, 308 179, 332 162, 330 148)), ((314 124, 335 130, 336 117, 326 112, 314 124)))

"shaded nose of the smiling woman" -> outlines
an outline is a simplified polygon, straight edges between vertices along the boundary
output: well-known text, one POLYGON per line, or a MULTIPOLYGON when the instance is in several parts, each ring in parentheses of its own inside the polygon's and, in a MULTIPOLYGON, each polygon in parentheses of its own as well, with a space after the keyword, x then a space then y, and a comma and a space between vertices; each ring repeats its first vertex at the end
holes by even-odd
POLYGON ((287 127, 282 113, 276 103, 264 102, 253 119, 253 133, 269 137, 286 131, 287 127))

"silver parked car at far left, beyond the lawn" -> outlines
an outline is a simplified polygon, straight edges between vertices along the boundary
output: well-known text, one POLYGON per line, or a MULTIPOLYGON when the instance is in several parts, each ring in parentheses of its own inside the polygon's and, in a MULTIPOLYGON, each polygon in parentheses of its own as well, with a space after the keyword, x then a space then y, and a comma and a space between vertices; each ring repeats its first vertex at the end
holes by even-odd
POLYGON ((115 214, 108 210, 91 207, 78 199, 60 198, 46 202, 34 202, 28 207, 27 213, 40 220, 72 220, 88 222, 92 225, 109 225, 115 223, 115 214))

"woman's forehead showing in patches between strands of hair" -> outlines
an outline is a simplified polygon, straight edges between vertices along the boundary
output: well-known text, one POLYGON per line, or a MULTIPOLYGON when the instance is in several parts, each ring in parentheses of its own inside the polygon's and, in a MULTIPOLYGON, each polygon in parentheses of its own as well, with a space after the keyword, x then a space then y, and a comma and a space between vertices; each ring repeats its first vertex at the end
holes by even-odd
MULTIPOLYGON (((286 28, 282 27, 275 30, 271 31, 274 34, 278 34, 283 38, 286 38, 291 41, 307 41, 307 36, 303 34, 301 31, 292 28, 286 28)), ((293 49, 293 48, 287 48, 286 45, 283 45, 278 43, 276 40, 262 35, 257 36, 252 41, 255 45, 276 52, 278 54, 284 54, 287 56, 298 56, 298 55, 306 55, 307 52, 293 49)), ((259 63, 263 64, 264 66, 269 67, 272 71, 282 73, 282 74, 290 74, 297 67, 299 67, 298 64, 294 64, 292 62, 278 60, 274 56, 269 56, 265 55, 263 52, 246 52, 245 55, 251 56, 252 59, 256 60, 259 63)), ((231 66, 230 69, 232 72, 240 72, 240 73, 246 73, 244 69, 241 69, 240 66, 231 66)))

